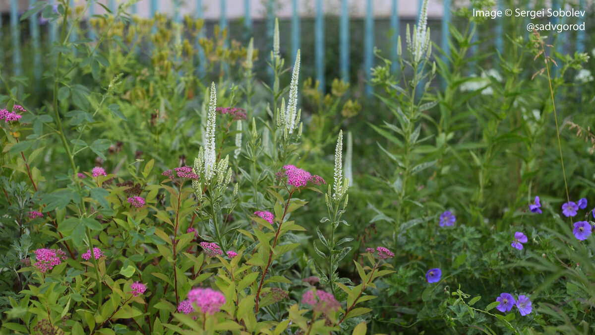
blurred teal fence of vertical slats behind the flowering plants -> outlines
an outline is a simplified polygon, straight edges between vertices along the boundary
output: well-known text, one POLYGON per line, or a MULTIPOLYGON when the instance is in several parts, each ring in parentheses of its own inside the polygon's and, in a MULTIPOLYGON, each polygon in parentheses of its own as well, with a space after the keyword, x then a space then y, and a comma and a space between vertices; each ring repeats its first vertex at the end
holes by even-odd
MULTIPOLYGON (((90 0, 92 1, 92 0, 90 0)), ((150 17, 154 17, 155 13, 160 10, 159 8, 159 1, 158 0, 143 0, 149 1, 149 11, 150 17)), ((203 0, 195 0, 196 11, 194 15, 198 18, 203 17, 203 6, 205 2, 203 0)), ((252 35, 253 31, 253 21, 250 13, 251 2, 253 4, 254 1, 259 0, 243 0, 243 8, 245 11, 244 16, 244 27, 245 27, 245 36, 242 36, 244 39, 248 40, 248 38, 252 35)), ((291 38, 290 38, 290 50, 292 54, 292 63, 295 60, 295 55, 297 53, 297 49, 300 48, 301 44, 301 20, 302 18, 299 15, 299 5, 300 1, 303 0, 291 0, 290 4, 292 6, 292 15, 290 17, 290 29, 291 29, 291 38)), ((393 71, 397 69, 397 37, 400 34, 399 31, 399 0, 392 0, 392 8, 390 11, 390 29, 387 32, 374 32, 375 27, 375 15, 374 15, 374 0, 340 0, 340 14, 339 14, 339 70, 340 70, 340 77, 349 82, 355 78, 350 78, 350 14, 349 8, 350 5, 356 4, 358 1, 365 1, 365 16, 364 16, 364 50, 363 50, 363 62, 362 62, 362 70, 365 73, 365 79, 370 79, 371 68, 374 67, 375 57, 374 57, 374 41, 375 38, 379 39, 387 39, 390 41, 390 59, 393 61, 393 71)), ((421 2, 423 0, 411 0, 417 1, 418 8, 421 7, 421 2)), ((449 41, 449 23, 451 20, 451 2, 452 0, 443 0, 443 17, 441 18, 441 32, 440 32, 440 47, 444 51, 446 55, 444 58, 450 55, 450 45, 449 41)), ((560 0, 553 0, 555 3, 558 3, 560 0)), ((33 5, 36 1, 29 0, 29 4, 33 5)), ((117 4, 120 1, 117 0, 101 0, 102 4, 107 5, 108 8, 112 11, 117 10, 117 4)), ((182 1, 180 0, 172 0, 171 3, 174 5, 174 21, 180 22, 180 4, 182 1)), ((275 5, 274 0, 265 0, 265 7, 267 10, 267 15, 265 17, 266 29, 267 29, 267 45, 270 45, 271 48, 273 46, 273 29, 274 29, 274 18, 275 18, 275 5)), ((0 2, 0 6, 3 2, 0 2)), ((56 0, 49 0, 48 4, 55 5, 57 4, 56 0)), ((314 69, 315 69, 315 77, 320 82, 320 89, 324 90, 325 87, 325 4, 328 5, 327 1, 324 0, 314 0, 314 69)), ((503 9, 504 0, 497 0, 497 8, 500 10, 503 9)), ((226 8, 229 5, 227 0, 209 0, 208 5, 219 5, 221 10, 221 15, 219 19, 219 24, 221 28, 226 28, 228 26, 228 19, 226 14, 226 8)), ((579 6, 581 9, 584 10, 585 8, 585 0, 579 0, 579 6)), ((18 11, 18 1, 17 0, 10 0, 10 8, 0 8, 0 12, 8 12, 10 13, 10 36, 11 36, 11 65, 12 65, 12 74, 13 75, 22 75, 23 74, 23 61, 21 55, 21 22, 20 22, 20 15, 18 11)), ((136 13, 137 8, 136 5, 131 8, 133 13, 136 13)), ((90 11, 90 15, 93 15, 93 11, 90 11)), ((41 14, 33 15, 29 18, 29 38, 32 41, 32 48, 33 48, 33 75, 35 79, 40 79, 41 74, 43 73, 43 62, 42 62, 42 52, 43 51, 43 44, 51 45, 56 41, 56 30, 57 25, 55 22, 50 22, 47 26, 44 26, 46 30, 44 32, 47 33, 48 38, 42 39, 40 38, 40 26, 39 26, 39 18, 41 14)), ((581 19, 581 20, 584 20, 581 19)), ((0 26, 2 24, 2 17, 0 16, 0 26)), ((502 52, 503 50, 503 27, 502 27, 502 20, 496 22, 496 29, 495 29, 495 46, 498 52, 502 52)), ((0 30, 0 38, 2 37, 2 31, 0 30)), ((525 34, 527 34, 525 32, 525 34)), ((93 38, 93 32, 90 31, 90 38, 93 38)), ((200 36, 204 36, 202 32, 200 36)), ((477 36, 477 35, 476 35, 477 36)), ((232 36, 233 37, 233 36, 232 36)), ((562 38, 562 36, 558 36, 558 39, 562 38)), ((475 40, 474 40, 475 41, 475 40)), ((472 42, 474 42, 472 41, 472 42)), ((283 44, 283 41, 281 41, 283 44)), ((585 32, 578 32, 577 34, 577 51, 584 51, 585 49, 585 32)), ((198 46, 198 44, 197 44, 198 46)), ((559 43, 557 48, 562 47, 562 43, 559 43)), ((477 48, 472 47, 471 53, 477 52, 477 48)), ((4 48, 0 48, 0 62, 4 64, 4 58, 7 57, 7 52, 4 48)), ((205 55, 201 50, 199 50, 199 57, 201 60, 204 60, 205 55)), ((200 62, 202 64, 202 61, 200 62)), ((202 67, 198 69, 199 73, 203 73, 202 67)), ((39 81, 39 80, 37 80, 39 81)), ((365 86, 366 94, 372 94, 372 86, 366 85, 365 86)))

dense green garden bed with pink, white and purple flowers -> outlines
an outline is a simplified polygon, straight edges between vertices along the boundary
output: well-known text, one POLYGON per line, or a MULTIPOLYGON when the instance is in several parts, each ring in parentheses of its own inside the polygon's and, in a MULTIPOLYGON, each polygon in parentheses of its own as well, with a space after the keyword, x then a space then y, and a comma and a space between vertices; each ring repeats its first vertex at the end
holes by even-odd
POLYGON ((425 1, 361 99, 278 24, 256 50, 92 3, 22 17, 60 29, 51 94, 0 68, 2 334, 595 330, 588 54, 512 21, 473 55, 466 7, 447 53, 425 1))

